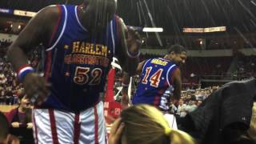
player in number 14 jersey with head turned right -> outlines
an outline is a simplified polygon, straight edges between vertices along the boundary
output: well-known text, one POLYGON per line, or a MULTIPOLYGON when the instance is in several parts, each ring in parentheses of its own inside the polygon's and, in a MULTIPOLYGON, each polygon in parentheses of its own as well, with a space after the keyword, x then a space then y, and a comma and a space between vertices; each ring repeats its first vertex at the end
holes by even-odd
POLYGON ((141 79, 132 103, 146 103, 164 112, 169 110, 170 97, 180 98, 182 82, 178 66, 186 61, 186 49, 169 46, 164 58, 151 58, 138 65, 141 79))

